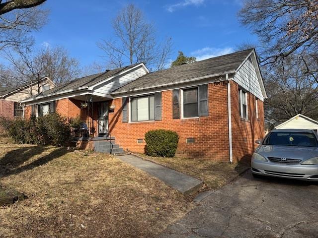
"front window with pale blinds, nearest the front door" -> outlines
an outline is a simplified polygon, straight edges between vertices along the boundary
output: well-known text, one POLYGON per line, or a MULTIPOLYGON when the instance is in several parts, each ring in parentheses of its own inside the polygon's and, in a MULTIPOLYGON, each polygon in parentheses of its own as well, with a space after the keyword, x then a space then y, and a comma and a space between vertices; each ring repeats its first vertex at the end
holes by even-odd
POLYGON ((155 119, 155 95, 131 98, 131 121, 155 119))

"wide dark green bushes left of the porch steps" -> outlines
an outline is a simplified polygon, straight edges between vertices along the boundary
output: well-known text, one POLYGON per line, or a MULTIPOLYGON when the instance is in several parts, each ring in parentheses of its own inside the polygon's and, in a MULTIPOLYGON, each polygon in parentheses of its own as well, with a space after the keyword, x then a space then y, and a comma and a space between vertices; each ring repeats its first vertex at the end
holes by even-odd
POLYGON ((66 145, 71 139, 70 119, 58 114, 24 119, 1 119, 7 134, 19 144, 66 145))

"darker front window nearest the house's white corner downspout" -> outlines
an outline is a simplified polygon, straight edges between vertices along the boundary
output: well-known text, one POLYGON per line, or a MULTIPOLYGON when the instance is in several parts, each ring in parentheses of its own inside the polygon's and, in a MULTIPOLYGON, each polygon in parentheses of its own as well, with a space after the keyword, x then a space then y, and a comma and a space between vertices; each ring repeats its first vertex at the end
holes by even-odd
POLYGON ((199 117, 198 88, 183 89, 183 117, 199 117))

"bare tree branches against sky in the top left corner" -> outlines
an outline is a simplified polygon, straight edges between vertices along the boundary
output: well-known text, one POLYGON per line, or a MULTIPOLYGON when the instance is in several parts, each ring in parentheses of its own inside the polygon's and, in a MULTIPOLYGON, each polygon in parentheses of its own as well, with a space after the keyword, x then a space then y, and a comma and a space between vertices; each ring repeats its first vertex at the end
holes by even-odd
POLYGON ((29 33, 47 21, 47 10, 37 5, 45 0, 0 0, 0 50, 6 47, 29 47, 29 33))

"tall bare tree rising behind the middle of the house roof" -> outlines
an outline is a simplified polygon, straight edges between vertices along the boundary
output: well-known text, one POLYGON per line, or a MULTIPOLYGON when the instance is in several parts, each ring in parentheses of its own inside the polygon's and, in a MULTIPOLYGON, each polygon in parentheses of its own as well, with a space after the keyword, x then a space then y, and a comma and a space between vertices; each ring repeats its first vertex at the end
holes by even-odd
POLYGON ((147 22, 143 12, 133 4, 124 7, 112 21, 115 38, 98 42, 111 67, 144 62, 153 70, 167 65, 171 39, 156 41, 153 24, 147 22))

